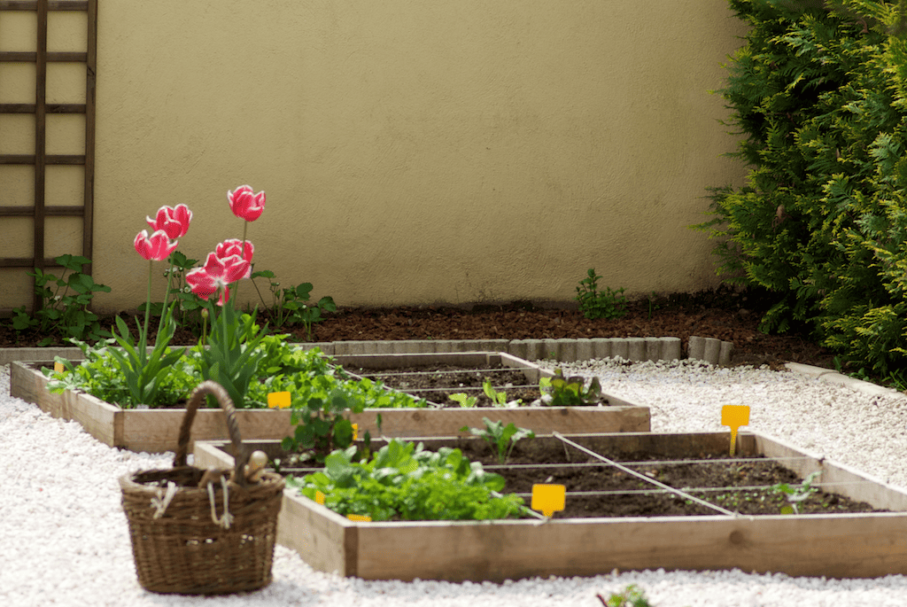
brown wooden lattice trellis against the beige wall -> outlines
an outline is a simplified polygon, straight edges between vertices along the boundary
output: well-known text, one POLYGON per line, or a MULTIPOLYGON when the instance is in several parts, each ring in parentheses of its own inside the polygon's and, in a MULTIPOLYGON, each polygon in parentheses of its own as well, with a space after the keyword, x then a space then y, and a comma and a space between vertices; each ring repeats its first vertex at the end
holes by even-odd
MULTIPOLYGON (((31 257, 0 257, 2 268, 48 268, 54 267, 54 259, 46 257, 44 250, 45 220, 48 217, 81 217, 83 220, 82 255, 92 258, 92 220, 94 200, 94 84, 97 43, 97 0, 0 0, 3 11, 35 11, 37 13, 37 40, 33 52, 0 52, 0 64, 26 63, 35 66, 34 103, 0 103, 0 117, 3 114, 34 114, 34 154, 2 153, 0 142, 0 164, 30 165, 34 167, 34 205, 4 205, 0 189, 0 218, 29 217, 33 220, 34 246, 31 257), (88 15, 88 44, 84 53, 47 52, 47 15, 52 11, 82 11, 88 15), (46 79, 48 63, 85 64, 85 103, 46 103, 46 79), (47 114, 82 113, 85 115, 85 147, 83 154, 48 154, 46 148, 47 114), (48 206, 44 204, 44 170, 48 165, 83 165, 83 205, 48 206)), ((83 268, 86 273, 90 267, 83 268)), ((34 296, 34 309, 40 308, 41 298, 34 296)))

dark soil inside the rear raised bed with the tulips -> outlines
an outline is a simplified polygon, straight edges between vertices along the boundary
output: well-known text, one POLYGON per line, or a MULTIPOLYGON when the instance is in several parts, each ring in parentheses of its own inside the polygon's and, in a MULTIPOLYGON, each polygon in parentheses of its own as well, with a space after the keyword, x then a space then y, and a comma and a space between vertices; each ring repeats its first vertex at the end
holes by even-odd
POLYGON ((364 369, 346 368, 347 371, 360 377, 380 380, 387 387, 393 387, 416 398, 444 407, 459 407, 459 402, 452 400, 452 394, 465 394, 476 398, 474 406, 493 406, 492 399, 485 396, 483 383, 491 382, 496 392, 503 392, 507 402, 522 400, 522 406, 529 406, 533 400, 541 397, 538 384, 529 381, 522 371, 512 367, 490 365, 485 367, 456 367, 453 365, 433 365, 404 368, 364 369))

